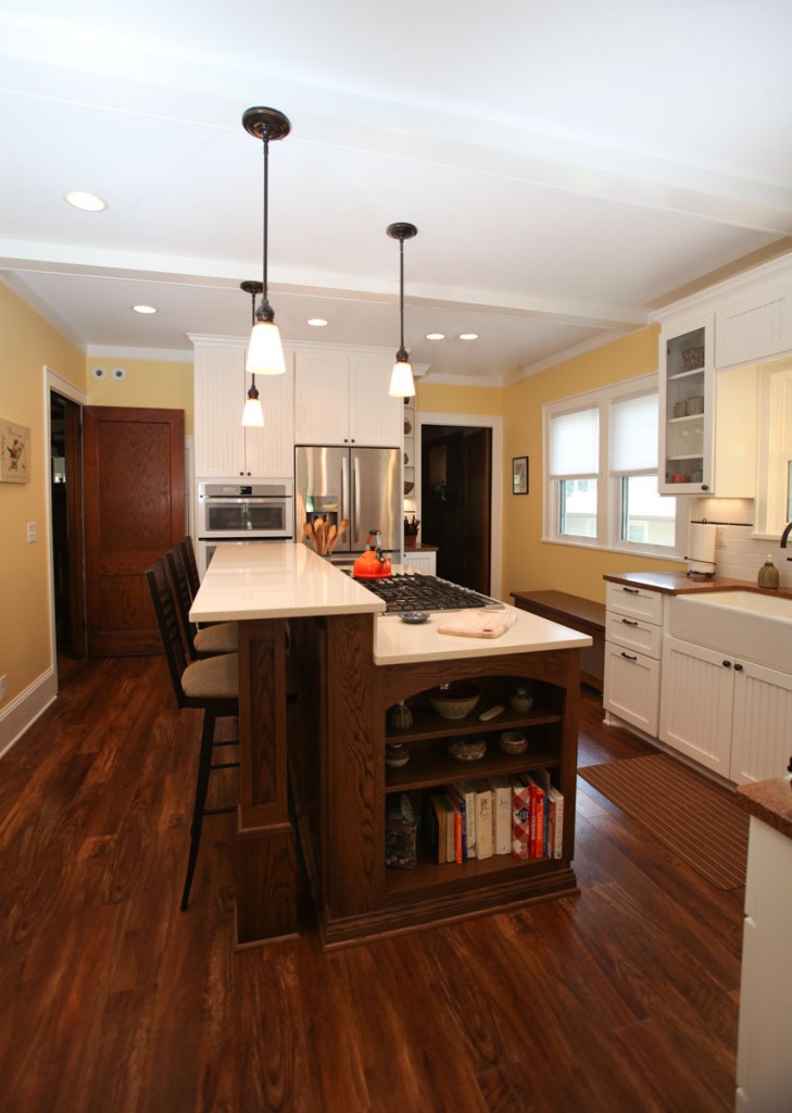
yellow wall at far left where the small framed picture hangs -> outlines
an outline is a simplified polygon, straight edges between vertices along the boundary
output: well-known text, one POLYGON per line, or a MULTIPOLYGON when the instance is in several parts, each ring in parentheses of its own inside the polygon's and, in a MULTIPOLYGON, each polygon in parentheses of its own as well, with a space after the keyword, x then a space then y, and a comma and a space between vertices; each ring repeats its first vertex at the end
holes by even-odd
POLYGON ((52 663, 44 365, 85 388, 85 356, 0 283, 0 417, 30 429, 30 482, 0 483, 0 673, 8 702, 52 663), (38 541, 28 543, 28 522, 38 541))

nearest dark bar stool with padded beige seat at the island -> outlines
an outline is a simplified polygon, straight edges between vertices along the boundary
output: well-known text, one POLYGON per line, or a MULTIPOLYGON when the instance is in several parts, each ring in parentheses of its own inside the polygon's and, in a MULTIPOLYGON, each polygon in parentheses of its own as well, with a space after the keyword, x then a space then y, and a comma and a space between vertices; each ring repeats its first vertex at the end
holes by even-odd
POLYGON ((181 894, 181 910, 185 912, 198 860, 204 817, 236 811, 236 805, 207 808, 206 797, 209 775, 212 770, 239 767, 238 761, 212 764, 212 749, 216 746, 236 745, 236 741, 216 742, 215 728, 218 719, 239 716, 239 657, 237 653, 221 653, 188 663, 176 601, 168 579, 166 561, 161 556, 146 572, 146 579, 151 593, 151 602, 157 617, 157 626, 176 702, 180 708, 190 707, 204 712, 198 775, 192 802, 190 848, 181 894))

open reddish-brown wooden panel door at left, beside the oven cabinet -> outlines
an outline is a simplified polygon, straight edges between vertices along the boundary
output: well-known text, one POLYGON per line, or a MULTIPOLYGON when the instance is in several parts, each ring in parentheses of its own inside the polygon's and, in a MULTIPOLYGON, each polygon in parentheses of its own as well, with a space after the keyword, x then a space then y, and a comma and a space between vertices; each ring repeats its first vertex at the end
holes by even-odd
POLYGON ((181 410, 83 411, 89 657, 161 648, 146 570, 186 532, 181 410))

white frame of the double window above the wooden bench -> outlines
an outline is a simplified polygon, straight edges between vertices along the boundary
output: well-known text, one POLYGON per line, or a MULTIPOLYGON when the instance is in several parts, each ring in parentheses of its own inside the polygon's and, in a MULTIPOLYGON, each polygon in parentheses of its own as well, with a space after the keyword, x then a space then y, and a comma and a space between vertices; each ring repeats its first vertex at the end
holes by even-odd
MULTIPOLYGON (((659 560, 684 560, 684 549, 687 536, 689 509, 687 500, 676 498, 675 544, 649 545, 645 542, 626 541, 620 536, 622 520, 622 479, 621 474, 611 474, 610 436, 611 405, 642 394, 657 393, 657 375, 642 375, 623 383, 614 383, 596 391, 577 394, 574 397, 561 398, 543 406, 543 456, 544 456, 544 514, 543 540, 554 544, 573 545, 581 549, 613 550, 615 552, 633 553, 642 556, 654 556, 659 560), (597 480, 596 536, 582 536, 561 533, 561 483, 551 477, 551 423, 561 414, 582 410, 598 410, 600 424, 600 461, 597 480)), ((636 472, 635 474, 646 474, 636 472)), ((660 474, 660 464, 657 465, 660 474)), ((575 476, 570 476, 574 479, 575 476)))

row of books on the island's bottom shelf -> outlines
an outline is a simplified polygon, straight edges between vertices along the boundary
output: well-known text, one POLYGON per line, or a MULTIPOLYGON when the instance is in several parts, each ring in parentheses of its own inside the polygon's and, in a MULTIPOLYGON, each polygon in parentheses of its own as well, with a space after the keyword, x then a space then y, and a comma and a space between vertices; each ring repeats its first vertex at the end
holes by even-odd
POLYGON ((564 797, 546 769, 457 780, 427 794, 424 830, 428 851, 439 864, 506 854, 561 858, 564 797))

